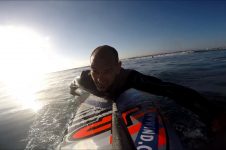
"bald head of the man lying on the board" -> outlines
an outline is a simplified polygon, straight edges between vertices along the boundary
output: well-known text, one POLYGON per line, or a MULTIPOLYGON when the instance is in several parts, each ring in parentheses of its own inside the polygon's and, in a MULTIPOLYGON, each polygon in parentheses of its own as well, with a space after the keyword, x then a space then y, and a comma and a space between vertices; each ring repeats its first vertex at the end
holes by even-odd
POLYGON ((121 62, 115 48, 99 46, 91 54, 91 76, 99 91, 107 91, 120 73, 121 62))

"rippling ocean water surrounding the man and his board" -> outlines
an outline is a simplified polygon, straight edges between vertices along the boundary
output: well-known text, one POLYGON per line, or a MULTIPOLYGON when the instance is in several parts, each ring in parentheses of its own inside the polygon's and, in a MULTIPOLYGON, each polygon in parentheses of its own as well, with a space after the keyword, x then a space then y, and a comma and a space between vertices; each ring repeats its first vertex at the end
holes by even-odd
MULTIPOLYGON (((123 67, 193 88, 211 101, 226 102, 226 50, 126 59, 123 67)), ((78 106, 69 94, 70 82, 85 69, 89 67, 45 75, 42 86, 33 92, 35 102, 43 104, 36 112, 23 107, 23 101, 0 82, 0 149, 54 149, 78 106)), ((26 94, 21 98, 29 101, 26 94)), ((187 149, 198 149, 200 143, 208 142, 206 127, 195 114, 168 98, 161 98, 159 105, 187 149)))

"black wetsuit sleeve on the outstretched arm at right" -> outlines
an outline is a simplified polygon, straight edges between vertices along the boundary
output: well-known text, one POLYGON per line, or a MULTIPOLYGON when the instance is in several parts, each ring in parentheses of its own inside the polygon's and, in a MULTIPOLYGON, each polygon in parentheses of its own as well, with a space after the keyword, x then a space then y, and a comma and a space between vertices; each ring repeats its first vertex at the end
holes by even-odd
POLYGON ((128 77, 128 83, 131 84, 130 87, 172 98, 176 103, 199 115, 206 123, 209 123, 218 113, 218 110, 206 98, 193 89, 170 82, 163 82, 158 78, 147 76, 137 71, 131 72, 128 77), (209 113, 210 110, 211 114, 209 113))

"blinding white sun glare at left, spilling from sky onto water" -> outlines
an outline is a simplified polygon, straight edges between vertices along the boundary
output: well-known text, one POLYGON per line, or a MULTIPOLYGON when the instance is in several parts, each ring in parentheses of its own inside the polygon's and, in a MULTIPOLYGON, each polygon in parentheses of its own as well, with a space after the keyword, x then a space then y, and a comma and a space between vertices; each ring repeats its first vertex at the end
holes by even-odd
POLYGON ((0 26, 0 83, 22 109, 41 108, 35 92, 51 68, 50 55, 49 37, 27 27, 0 26))

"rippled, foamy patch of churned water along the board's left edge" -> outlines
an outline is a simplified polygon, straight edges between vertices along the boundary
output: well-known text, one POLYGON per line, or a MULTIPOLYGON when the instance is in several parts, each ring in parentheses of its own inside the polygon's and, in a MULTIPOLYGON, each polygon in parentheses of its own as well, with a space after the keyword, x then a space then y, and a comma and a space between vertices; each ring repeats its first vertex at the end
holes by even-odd
POLYGON ((26 150, 56 148, 76 112, 76 102, 72 99, 46 105, 38 113, 27 136, 26 150))

